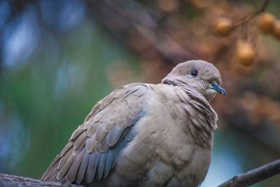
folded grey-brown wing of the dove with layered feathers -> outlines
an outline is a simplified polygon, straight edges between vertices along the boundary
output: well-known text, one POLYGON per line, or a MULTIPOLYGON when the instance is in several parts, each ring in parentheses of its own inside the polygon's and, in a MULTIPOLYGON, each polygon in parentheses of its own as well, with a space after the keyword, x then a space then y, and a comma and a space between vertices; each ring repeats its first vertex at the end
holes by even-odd
POLYGON ((126 85, 98 102, 42 179, 91 183, 106 178, 135 136, 132 125, 144 116, 147 89, 141 83, 126 85))

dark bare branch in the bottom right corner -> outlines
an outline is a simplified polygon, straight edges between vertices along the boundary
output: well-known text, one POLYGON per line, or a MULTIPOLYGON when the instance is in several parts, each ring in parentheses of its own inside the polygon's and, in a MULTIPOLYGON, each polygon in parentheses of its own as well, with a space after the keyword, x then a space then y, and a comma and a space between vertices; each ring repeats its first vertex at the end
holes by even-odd
POLYGON ((263 181, 275 174, 280 173, 280 159, 275 160, 274 162, 269 162, 266 165, 255 168, 251 171, 248 171, 244 174, 239 174, 234 176, 232 179, 225 181, 218 187, 244 187, 251 186, 254 183, 263 181))

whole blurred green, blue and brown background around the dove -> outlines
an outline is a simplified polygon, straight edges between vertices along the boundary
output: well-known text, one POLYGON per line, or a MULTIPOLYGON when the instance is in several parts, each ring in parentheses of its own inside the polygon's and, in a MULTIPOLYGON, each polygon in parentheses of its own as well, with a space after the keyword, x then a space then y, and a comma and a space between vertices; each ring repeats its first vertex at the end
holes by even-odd
MULTIPOLYGON (((225 37, 232 22, 263 1, 0 1, 0 172, 39 179, 92 106, 132 82, 159 83, 190 59, 220 69, 226 97, 211 167, 202 186, 216 186, 280 157, 280 42, 258 32, 257 19, 225 37), (239 63, 237 42, 253 60, 239 63)), ((280 2, 266 11, 280 18, 280 2)), ((280 176, 254 186, 278 187, 280 176)))

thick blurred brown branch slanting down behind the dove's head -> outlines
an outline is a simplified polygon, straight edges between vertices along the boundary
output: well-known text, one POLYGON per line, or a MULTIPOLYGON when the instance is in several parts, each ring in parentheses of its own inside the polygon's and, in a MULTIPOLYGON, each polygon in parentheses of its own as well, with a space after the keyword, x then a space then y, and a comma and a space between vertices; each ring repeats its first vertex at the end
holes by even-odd
POLYGON ((127 42, 127 35, 130 32, 143 36, 149 41, 153 49, 158 51, 169 62, 183 62, 197 59, 188 49, 183 48, 174 39, 162 32, 157 23, 156 11, 145 8, 137 1, 130 1, 137 7, 131 10, 127 4, 120 4, 118 1, 86 1, 91 8, 91 13, 99 24, 103 25, 112 34, 127 42))

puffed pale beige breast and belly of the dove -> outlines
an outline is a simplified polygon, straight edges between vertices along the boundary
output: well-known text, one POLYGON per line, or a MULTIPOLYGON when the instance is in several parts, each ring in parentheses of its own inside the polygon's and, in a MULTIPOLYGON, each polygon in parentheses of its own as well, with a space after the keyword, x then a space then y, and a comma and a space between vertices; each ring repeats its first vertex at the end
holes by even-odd
POLYGON ((129 168, 135 170, 130 172, 134 177, 148 173, 144 179, 149 186, 198 185, 207 174, 213 138, 208 140, 209 146, 201 146, 193 138, 190 115, 197 113, 192 108, 186 112, 189 104, 183 99, 190 99, 186 92, 169 85, 167 88, 154 86, 152 90, 149 94, 156 97, 147 97, 147 115, 135 126, 137 136, 123 151, 125 159, 120 159, 122 169, 119 170, 133 162, 134 167, 129 168))

